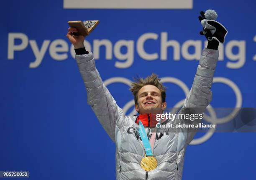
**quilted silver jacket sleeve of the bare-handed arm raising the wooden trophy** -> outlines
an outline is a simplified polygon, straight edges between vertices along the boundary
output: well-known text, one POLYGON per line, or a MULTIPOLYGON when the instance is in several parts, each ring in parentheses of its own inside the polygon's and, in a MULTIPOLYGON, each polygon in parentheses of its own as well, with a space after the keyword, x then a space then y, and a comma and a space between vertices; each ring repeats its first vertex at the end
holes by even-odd
POLYGON ((79 71, 87 90, 87 103, 92 107, 102 127, 115 142, 115 126, 119 120, 124 120, 123 110, 118 107, 114 98, 102 82, 95 67, 92 52, 75 55, 79 71))

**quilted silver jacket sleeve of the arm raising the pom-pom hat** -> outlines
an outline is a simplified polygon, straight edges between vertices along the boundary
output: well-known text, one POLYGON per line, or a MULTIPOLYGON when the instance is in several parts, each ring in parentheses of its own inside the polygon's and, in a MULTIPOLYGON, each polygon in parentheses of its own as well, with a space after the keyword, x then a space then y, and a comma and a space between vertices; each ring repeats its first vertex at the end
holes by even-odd
MULTIPOLYGON (((200 114, 205 111, 205 107, 212 100, 212 80, 219 57, 218 50, 204 49, 200 58, 197 72, 194 78, 192 88, 184 101, 183 107, 189 108, 194 113, 200 114)), ((182 108, 186 109, 186 108, 182 108)), ((193 124, 198 121, 191 122, 193 124)), ((195 130, 189 129, 186 143, 189 144, 195 135, 195 130)))

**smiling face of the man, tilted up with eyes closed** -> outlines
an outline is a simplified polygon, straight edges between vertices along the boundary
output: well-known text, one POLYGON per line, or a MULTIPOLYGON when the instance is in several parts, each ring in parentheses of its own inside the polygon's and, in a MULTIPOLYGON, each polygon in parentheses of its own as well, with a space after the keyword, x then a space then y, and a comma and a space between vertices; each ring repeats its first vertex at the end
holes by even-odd
POLYGON ((138 104, 135 109, 139 114, 162 113, 165 108, 166 102, 162 102, 161 91, 156 86, 145 85, 138 91, 138 104))

